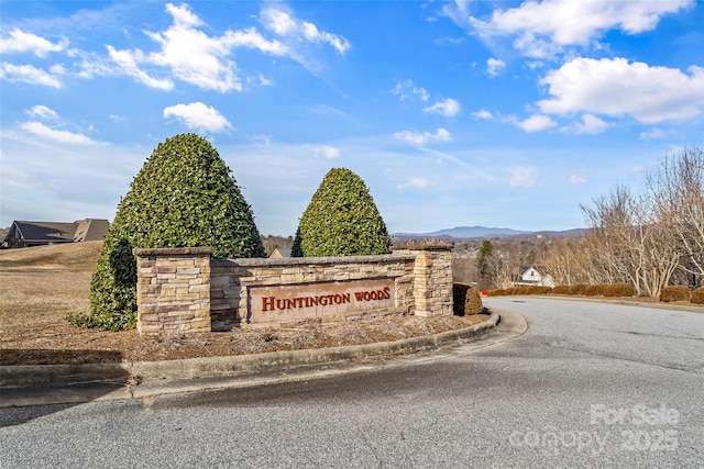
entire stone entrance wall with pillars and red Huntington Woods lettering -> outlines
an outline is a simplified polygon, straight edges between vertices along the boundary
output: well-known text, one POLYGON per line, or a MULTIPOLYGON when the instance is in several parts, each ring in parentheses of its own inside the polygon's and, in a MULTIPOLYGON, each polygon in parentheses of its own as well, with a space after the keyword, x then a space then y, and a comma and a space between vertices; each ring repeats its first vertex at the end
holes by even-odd
POLYGON ((211 253, 210 248, 134 249, 140 333, 452 314, 449 248, 229 260, 211 259, 211 253))

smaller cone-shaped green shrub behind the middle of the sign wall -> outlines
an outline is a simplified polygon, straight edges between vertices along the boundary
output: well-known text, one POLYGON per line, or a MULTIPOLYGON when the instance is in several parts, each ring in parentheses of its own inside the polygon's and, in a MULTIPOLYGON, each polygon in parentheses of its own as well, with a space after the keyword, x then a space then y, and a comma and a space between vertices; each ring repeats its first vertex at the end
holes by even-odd
POLYGON ((333 168, 300 217, 292 255, 366 256, 386 254, 391 245, 386 224, 362 178, 333 168))

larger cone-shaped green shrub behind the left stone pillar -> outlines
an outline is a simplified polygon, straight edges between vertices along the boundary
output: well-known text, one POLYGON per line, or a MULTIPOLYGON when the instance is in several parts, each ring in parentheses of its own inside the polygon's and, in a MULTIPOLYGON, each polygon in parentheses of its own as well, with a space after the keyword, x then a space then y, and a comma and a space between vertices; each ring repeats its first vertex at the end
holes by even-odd
POLYGON ((220 258, 264 257, 250 205, 218 152, 195 134, 160 144, 120 201, 90 283, 90 315, 80 325, 136 323, 134 247, 211 246, 220 258))

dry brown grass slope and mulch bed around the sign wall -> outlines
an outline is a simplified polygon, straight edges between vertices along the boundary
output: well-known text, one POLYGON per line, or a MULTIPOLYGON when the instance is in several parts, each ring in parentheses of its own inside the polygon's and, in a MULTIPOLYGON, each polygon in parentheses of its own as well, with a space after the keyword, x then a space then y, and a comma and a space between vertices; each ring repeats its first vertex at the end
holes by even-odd
POLYGON ((89 311, 101 243, 0 250, 0 365, 172 360, 397 340, 468 327, 475 316, 387 316, 170 337, 76 328, 66 314, 89 311))

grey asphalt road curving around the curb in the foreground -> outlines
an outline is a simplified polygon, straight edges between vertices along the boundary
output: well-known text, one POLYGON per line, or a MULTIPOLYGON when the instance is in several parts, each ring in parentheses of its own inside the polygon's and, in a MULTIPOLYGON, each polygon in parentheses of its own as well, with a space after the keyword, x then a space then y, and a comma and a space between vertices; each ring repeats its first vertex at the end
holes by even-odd
POLYGON ((704 465, 704 314, 492 298, 479 350, 270 386, 0 410, 3 468, 704 465))

